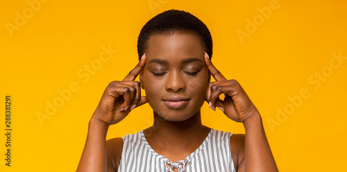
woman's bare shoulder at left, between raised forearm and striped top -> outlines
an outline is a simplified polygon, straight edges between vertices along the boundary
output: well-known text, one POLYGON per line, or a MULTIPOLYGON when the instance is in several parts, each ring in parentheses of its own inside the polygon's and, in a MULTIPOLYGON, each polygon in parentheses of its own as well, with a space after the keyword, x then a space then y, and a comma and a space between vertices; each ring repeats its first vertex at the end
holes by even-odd
POLYGON ((121 161, 121 151, 123 149, 123 139, 121 137, 112 138, 106 141, 107 168, 108 171, 117 171, 121 161))

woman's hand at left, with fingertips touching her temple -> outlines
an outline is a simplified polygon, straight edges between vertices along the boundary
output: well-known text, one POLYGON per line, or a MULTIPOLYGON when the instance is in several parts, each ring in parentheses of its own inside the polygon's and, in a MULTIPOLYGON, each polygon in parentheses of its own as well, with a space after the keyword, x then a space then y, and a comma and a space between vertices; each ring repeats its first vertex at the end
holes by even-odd
POLYGON ((114 81, 108 84, 92 118, 105 126, 117 124, 135 107, 147 103, 146 96, 141 96, 141 87, 135 78, 146 62, 144 54, 133 70, 126 75, 123 81, 114 81))

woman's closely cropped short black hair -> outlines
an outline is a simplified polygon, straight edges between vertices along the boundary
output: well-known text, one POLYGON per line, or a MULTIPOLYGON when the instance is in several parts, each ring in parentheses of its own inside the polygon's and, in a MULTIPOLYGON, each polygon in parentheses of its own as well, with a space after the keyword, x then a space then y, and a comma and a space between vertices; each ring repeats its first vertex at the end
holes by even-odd
POLYGON ((153 35, 174 32, 176 30, 193 32, 201 39, 206 52, 212 57, 212 37, 208 27, 189 12, 183 10, 167 10, 159 15, 156 15, 142 28, 137 39, 137 53, 139 59, 144 55, 144 50, 147 48, 147 42, 153 35))

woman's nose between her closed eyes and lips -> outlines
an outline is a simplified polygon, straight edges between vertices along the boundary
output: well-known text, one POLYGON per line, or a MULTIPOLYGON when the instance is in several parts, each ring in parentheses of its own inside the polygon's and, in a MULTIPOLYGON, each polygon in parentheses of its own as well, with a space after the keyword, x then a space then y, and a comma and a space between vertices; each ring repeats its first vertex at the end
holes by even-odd
POLYGON ((183 78, 183 73, 180 71, 172 71, 168 73, 166 89, 174 92, 178 92, 180 90, 185 90, 185 79, 183 78))

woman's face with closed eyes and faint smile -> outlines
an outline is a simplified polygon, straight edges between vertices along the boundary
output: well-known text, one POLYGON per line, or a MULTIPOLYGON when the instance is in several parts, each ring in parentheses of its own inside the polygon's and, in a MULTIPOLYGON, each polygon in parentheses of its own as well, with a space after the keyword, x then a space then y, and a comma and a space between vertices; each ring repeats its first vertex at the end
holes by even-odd
POLYGON ((153 35, 147 45, 140 81, 149 105, 164 120, 189 119, 203 106, 209 82, 201 39, 175 31, 153 35))

